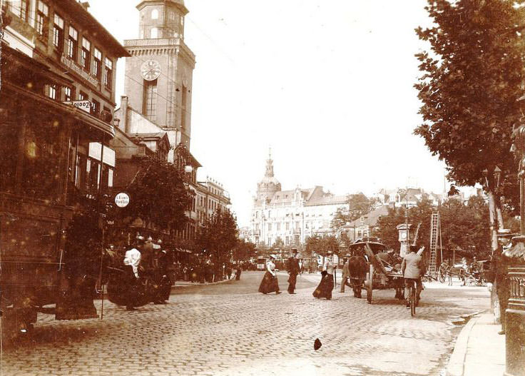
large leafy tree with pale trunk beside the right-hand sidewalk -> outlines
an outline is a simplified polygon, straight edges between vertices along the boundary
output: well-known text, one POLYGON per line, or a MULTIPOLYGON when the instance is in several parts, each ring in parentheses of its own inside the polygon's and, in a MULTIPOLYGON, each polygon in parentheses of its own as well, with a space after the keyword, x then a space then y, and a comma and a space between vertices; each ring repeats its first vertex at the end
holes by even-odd
POLYGON ((496 177, 517 208, 516 166, 510 152, 514 122, 521 117, 524 81, 524 1, 429 0, 434 21, 416 29, 432 54, 417 54, 423 75, 419 90, 424 123, 414 133, 433 155, 447 163, 448 178, 462 186, 484 185, 489 196, 492 248, 496 228, 503 228, 496 177), (461 27, 458 27, 461 25, 461 27), (489 171, 489 173, 484 173, 489 171))

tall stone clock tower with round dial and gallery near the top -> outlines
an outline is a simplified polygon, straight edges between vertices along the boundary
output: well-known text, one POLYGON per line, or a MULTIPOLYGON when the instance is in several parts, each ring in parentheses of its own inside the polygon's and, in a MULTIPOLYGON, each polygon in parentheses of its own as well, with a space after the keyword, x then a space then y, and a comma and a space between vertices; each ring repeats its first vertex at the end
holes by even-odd
POLYGON ((172 146, 189 149, 195 55, 184 43, 188 9, 183 0, 144 0, 137 9, 140 39, 124 41, 128 105, 163 128, 172 146))

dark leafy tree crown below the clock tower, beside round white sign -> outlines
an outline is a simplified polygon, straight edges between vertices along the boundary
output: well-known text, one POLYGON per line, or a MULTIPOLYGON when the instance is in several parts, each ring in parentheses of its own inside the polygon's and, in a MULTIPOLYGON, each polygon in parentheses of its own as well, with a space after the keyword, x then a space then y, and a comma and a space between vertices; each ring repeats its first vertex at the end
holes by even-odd
POLYGON ((123 210, 124 215, 173 230, 188 223, 185 211, 190 208, 193 195, 173 164, 148 158, 127 191, 130 203, 123 210))

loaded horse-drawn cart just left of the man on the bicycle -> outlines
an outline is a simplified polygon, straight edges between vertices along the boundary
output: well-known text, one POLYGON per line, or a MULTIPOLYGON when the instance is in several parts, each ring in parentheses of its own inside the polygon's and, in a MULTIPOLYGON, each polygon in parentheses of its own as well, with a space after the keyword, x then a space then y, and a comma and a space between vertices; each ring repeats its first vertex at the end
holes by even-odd
POLYGON ((404 299, 404 279, 401 259, 388 252, 388 248, 375 238, 357 240, 349 247, 350 283, 356 298, 367 290, 367 301, 372 303, 373 290, 396 291, 395 298, 404 299))

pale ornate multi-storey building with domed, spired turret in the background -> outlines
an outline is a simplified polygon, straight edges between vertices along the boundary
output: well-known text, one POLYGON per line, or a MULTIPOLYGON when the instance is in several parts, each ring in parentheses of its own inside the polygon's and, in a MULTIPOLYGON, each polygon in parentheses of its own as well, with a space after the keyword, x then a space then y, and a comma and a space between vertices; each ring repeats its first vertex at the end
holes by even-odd
POLYGON ((347 195, 325 192, 322 186, 282 190, 269 156, 253 201, 250 240, 271 247, 278 239, 285 245, 302 245, 308 237, 335 235, 332 218, 337 209, 348 210, 348 205, 347 195))

